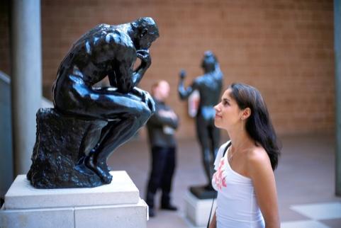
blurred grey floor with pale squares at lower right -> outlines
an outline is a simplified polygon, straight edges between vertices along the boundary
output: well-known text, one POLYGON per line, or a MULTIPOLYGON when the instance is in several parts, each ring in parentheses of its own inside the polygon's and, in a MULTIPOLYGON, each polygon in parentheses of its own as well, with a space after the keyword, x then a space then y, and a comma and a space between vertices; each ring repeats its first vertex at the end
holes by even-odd
MULTIPOLYGON (((335 141, 332 135, 281 137, 283 145, 275 172, 282 228, 340 228, 341 197, 335 196, 335 141)), ((150 154, 147 144, 131 140, 108 160, 113 170, 125 170, 145 197, 150 154)), ((173 203, 177 212, 157 210, 148 228, 194 227, 184 216, 189 186, 206 183, 196 141, 179 140, 173 203)), ((159 195, 157 195, 158 197, 159 195)), ((158 199, 156 203, 158 206, 158 199)))

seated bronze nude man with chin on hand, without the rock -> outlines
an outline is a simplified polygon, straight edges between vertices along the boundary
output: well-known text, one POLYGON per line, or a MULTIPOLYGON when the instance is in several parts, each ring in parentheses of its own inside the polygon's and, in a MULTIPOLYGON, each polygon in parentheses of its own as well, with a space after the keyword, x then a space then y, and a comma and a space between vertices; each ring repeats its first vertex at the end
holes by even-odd
POLYGON ((77 161, 79 166, 96 173, 103 183, 112 179, 106 165, 108 156, 135 135, 155 112, 150 94, 136 86, 150 67, 148 49, 158 37, 152 18, 122 25, 97 25, 72 45, 58 69, 53 85, 57 113, 107 122, 96 132, 91 125, 86 130, 77 161), (140 66, 133 69, 138 58, 140 66), (110 86, 94 87, 106 76, 110 86))

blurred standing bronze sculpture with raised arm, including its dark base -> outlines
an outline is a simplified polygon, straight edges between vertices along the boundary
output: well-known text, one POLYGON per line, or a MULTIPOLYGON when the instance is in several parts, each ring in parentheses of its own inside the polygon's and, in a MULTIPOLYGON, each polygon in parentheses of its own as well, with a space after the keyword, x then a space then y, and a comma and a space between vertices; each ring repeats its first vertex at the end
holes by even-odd
POLYGON ((203 168, 208 184, 203 187, 191 187, 191 192, 198 198, 213 198, 215 191, 211 185, 213 176, 213 161, 216 158, 219 146, 219 130, 214 126, 214 106, 220 99, 223 86, 223 73, 220 71, 218 60, 213 52, 204 53, 201 63, 204 74, 197 77, 191 86, 184 87, 186 72, 180 72, 178 92, 181 100, 184 100, 194 91, 199 91, 200 102, 196 114, 196 132, 201 146, 203 168))

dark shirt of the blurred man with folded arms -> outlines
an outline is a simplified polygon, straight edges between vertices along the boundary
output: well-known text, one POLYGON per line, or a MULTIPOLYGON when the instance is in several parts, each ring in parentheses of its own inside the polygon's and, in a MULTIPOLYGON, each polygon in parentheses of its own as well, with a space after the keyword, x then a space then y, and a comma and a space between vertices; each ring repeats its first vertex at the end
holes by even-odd
POLYGON ((147 122, 147 130, 151 147, 175 147, 174 131, 178 127, 178 118, 176 120, 163 117, 160 115, 160 110, 172 110, 164 102, 155 101, 155 114, 152 115, 147 122))

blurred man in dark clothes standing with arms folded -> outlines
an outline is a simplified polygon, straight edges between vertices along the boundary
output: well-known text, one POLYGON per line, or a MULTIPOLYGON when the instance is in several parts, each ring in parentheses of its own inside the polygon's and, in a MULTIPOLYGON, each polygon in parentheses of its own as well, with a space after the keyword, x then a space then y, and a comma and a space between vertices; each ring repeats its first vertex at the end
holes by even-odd
POLYGON ((152 86, 155 114, 147 122, 152 152, 152 169, 146 195, 150 217, 155 216, 154 196, 158 189, 162 190, 161 209, 177 210, 177 207, 170 203, 170 192, 176 164, 174 132, 178 127, 179 119, 172 108, 164 103, 168 96, 169 84, 167 81, 158 81, 152 86))

